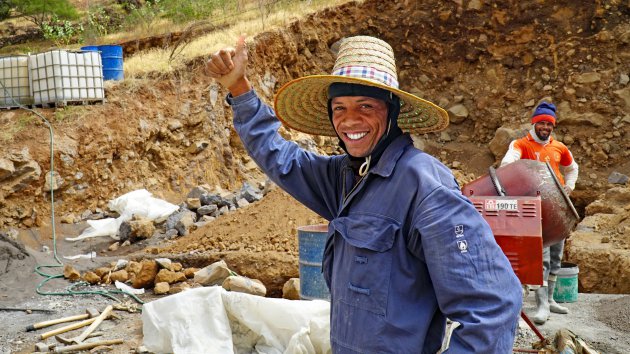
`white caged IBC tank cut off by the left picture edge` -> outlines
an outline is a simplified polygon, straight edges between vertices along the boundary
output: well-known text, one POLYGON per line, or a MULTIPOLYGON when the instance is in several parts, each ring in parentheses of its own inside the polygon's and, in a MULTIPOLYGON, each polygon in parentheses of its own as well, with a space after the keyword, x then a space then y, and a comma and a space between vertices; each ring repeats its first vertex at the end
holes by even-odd
POLYGON ((28 56, 0 58, 0 107, 33 103, 28 80, 28 56))

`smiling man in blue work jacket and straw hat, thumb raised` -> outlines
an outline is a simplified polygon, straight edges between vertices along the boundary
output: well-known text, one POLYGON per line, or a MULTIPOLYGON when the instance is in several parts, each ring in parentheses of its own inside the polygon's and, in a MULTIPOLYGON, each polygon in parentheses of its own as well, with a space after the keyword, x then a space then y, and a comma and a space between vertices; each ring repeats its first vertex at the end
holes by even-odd
POLYGON ((331 75, 292 80, 274 109, 247 79, 248 54, 214 53, 207 68, 230 94, 247 152, 281 188, 329 221, 322 272, 334 353, 511 353, 521 287, 492 231, 452 173, 409 132, 446 128, 448 114, 398 88, 394 52, 345 39, 331 75), (337 137, 343 155, 301 149, 280 121, 337 137), (406 132, 403 132, 406 131, 406 132))

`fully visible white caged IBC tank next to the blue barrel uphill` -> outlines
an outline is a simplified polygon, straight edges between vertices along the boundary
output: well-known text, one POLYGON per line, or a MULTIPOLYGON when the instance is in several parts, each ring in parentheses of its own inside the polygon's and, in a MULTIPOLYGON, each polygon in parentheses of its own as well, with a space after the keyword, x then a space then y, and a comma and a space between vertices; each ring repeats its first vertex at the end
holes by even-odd
POLYGON ((34 104, 102 101, 103 64, 98 52, 52 50, 29 57, 34 104))

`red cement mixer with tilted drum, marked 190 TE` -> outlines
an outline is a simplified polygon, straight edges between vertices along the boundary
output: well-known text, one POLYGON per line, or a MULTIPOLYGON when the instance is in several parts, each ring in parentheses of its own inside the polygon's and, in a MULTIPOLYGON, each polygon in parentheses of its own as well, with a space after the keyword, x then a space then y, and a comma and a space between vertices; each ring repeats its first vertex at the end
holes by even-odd
MULTIPOLYGON (((549 163, 522 159, 464 185, 522 284, 542 285, 542 249, 569 237, 579 215, 549 163)), ((521 317, 541 342, 529 317, 521 317)))

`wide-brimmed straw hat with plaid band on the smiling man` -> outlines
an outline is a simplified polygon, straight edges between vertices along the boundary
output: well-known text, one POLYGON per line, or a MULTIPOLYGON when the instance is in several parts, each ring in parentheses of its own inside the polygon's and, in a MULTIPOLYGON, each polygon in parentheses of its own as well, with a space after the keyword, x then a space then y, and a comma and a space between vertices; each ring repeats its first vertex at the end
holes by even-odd
POLYGON ((311 75, 288 82, 274 100, 276 115, 284 125, 313 135, 337 136, 328 119, 328 86, 344 82, 375 86, 401 100, 398 126, 422 134, 448 126, 448 113, 435 104, 398 89, 394 51, 386 42, 368 36, 345 39, 331 75, 311 75))

